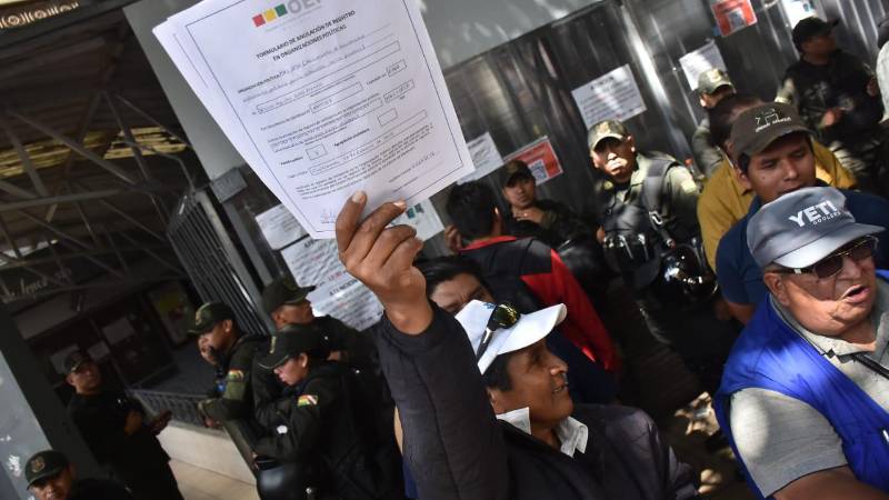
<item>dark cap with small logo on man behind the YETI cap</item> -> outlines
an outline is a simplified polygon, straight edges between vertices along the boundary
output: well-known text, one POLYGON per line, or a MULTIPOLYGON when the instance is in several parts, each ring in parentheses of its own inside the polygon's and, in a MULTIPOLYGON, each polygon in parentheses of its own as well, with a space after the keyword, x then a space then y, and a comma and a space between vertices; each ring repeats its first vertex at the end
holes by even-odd
POLYGON ((768 102, 750 108, 731 126, 731 141, 736 159, 741 154, 752 158, 777 139, 795 132, 811 133, 790 104, 768 102))

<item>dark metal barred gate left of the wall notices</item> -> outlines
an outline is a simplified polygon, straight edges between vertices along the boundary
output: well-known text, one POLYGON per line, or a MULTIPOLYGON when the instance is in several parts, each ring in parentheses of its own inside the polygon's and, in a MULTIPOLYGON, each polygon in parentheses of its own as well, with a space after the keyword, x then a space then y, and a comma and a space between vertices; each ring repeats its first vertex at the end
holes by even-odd
POLYGON ((202 300, 229 304, 244 331, 270 331, 256 281, 206 191, 182 197, 167 236, 202 300))

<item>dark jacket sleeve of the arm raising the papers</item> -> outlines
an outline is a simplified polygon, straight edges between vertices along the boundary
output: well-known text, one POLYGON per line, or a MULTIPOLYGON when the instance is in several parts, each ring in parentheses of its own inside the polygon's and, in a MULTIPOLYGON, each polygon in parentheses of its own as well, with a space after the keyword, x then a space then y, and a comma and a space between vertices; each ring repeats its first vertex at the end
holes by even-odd
POLYGON ((457 320, 432 308, 419 336, 399 332, 386 317, 374 331, 419 498, 506 499, 507 449, 472 348, 457 320))

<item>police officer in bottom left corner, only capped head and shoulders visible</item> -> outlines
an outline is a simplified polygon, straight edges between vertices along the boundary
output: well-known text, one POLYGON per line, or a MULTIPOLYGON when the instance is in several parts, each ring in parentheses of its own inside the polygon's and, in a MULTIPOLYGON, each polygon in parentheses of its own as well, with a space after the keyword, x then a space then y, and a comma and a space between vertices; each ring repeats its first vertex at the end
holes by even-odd
POLYGON ((37 500, 132 500, 123 486, 106 479, 78 480, 68 458, 60 451, 34 453, 24 466, 28 490, 37 500))

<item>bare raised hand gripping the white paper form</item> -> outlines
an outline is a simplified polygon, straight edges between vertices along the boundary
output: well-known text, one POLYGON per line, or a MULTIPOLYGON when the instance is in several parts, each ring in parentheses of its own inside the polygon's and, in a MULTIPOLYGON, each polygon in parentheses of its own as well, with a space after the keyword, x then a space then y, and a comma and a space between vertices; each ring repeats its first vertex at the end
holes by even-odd
POLYGON ((413 267, 422 241, 410 226, 387 228, 407 208, 403 201, 381 204, 363 220, 367 194, 359 191, 337 217, 337 248, 346 270, 382 302, 389 321, 401 332, 419 334, 432 321, 426 279, 413 267))

